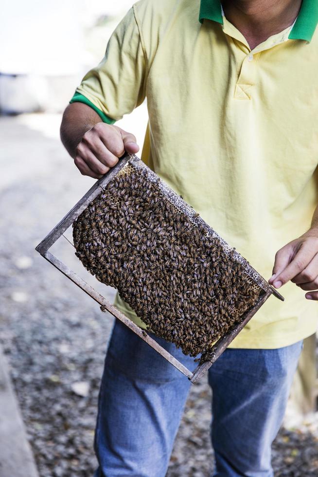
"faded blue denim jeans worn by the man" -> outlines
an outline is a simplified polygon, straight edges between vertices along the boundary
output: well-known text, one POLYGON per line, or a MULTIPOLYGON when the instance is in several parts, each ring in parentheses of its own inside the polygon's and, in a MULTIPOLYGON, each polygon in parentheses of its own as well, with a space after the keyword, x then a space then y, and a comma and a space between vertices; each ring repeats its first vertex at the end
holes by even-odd
MULTIPOLYGON (((193 358, 155 339, 195 368, 193 358)), ((214 476, 273 476, 271 444, 301 348, 302 342, 280 349, 226 349, 210 368, 214 476)), ((164 477, 190 385, 116 321, 99 396, 94 476, 164 477)))

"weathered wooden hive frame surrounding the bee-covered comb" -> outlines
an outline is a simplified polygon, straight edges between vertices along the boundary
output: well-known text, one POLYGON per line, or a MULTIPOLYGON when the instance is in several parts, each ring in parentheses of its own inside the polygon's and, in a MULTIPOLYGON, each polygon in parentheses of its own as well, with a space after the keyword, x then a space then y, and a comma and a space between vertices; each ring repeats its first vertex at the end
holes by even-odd
MULTIPOLYGON (((98 180, 77 202, 76 205, 70 210, 70 212, 53 228, 53 230, 37 245, 35 250, 46 260, 48 260, 54 267, 56 267, 63 275, 66 275, 73 283, 86 292, 91 298, 93 298, 101 307, 102 311, 108 311, 115 318, 119 319, 130 330, 137 334, 143 341, 148 343, 153 349, 155 349, 163 358, 176 367, 181 373, 195 383, 217 358, 223 353, 223 351, 230 345, 235 336, 245 327, 247 322, 252 316, 259 310, 259 308, 265 303, 270 295, 275 295, 277 298, 283 300, 283 296, 279 294, 274 288, 272 288, 267 281, 259 274, 258 284, 263 289, 264 293, 260 294, 255 305, 250 308, 242 317, 242 321, 235 327, 231 328, 223 337, 219 338, 212 348, 212 358, 202 364, 199 364, 194 371, 190 371, 182 363, 180 363, 174 356, 160 346, 151 336, 147 334, 145 330, 136 325, 133 321, 127 318, 124 313, 120 312, 114 305, 112 305, 102 294, 98 293, 93 287, 88 285, 79 275, 73 272, 62 261, 55 257, 49 249, 60 238, 63 233, 71 226, 71 224, 81 215, 81 213, 88 207, 101 189, 105 187, 122 169, 125 165, 130 164, 139 168, 147 167, 141 160, 134 154, 125 154, 112 169, 110 169, 100 180, 98 180)), ((251 267, 250 267, 251 268, 251 267)), ((253 270, 251 268, 251 270, 253 270)), ((254 271, 254 270, 253 270, 254 271)), ((257 273, 257 272, 255 272, 257 273)))

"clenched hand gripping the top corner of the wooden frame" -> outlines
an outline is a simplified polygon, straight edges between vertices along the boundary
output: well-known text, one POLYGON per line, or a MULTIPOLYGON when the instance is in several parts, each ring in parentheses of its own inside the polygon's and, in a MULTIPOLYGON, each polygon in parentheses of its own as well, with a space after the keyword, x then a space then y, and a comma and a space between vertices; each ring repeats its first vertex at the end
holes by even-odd
POLYGON ((100 179, 125 151, 132 154, 139 151, 133 134, 118 126, 96 123, 76 147, 74 163, 84 176, 100 179))

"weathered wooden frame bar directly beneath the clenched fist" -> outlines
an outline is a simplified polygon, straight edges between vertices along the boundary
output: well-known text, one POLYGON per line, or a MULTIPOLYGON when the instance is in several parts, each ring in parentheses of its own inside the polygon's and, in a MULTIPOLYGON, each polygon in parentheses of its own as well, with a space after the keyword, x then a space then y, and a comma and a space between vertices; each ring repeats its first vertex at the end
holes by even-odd
POLYGON ((77 204, 70 210, 70 212, 51 230, 51 232, 43 238, 43 240, 37 245, 35 250, 43 255, 53 243, 70 227, 70 225, 81 215, 83 210, 86 209, 88 204, 100 194, 100 187, 108 184, 118 172, 123 169, 131 158, 130 154, 125 154, 118 163, 112 167, 101 179, 95 182, 88 192, 80 199, 77 204))

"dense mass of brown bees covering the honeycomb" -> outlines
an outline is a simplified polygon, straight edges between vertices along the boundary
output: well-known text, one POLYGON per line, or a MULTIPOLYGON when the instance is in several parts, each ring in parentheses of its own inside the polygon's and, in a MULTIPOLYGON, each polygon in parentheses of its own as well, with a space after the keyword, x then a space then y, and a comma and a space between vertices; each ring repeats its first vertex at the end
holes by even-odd
POLYGON ((76 256, 157 336, 200 362, 241 322, 261 287, 145 171, 127 167, 73 224, 76 256))

